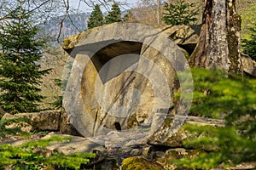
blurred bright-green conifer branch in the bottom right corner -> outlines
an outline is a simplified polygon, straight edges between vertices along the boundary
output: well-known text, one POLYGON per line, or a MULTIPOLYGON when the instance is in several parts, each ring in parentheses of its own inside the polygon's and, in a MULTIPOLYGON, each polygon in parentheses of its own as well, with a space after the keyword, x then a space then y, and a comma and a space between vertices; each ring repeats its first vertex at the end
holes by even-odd
POLYGON ((212 169, 231 167, 244 162, 256 161, 256 142, 237 133, 234 127, 200 127, 189 125, 187 133, 203 136, 183 141, 184 147, 191 150, 204 150, 192 159, 182 158, 172 161, 178 167, 190 169, 212 169))

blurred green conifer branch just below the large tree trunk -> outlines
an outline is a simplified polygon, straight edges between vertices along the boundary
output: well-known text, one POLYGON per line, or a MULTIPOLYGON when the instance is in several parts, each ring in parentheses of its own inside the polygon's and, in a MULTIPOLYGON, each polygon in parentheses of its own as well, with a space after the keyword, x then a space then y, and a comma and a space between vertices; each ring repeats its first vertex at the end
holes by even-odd
POLYGON ((224 71, 195 69, 191 114, 224 118, 242 134, 256 138, 256 80, 224 71))

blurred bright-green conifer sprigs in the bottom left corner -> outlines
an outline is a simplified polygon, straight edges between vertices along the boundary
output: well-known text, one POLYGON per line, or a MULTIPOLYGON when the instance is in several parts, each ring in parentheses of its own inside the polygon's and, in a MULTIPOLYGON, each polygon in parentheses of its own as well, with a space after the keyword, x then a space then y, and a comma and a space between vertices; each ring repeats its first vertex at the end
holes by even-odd
MULTIPOLYGON (((20 128, 7 128, 9 124, 15 122, 27 122, 26 118, 19 119, 1 119, 0 120, 0 138, 9 135, 22 135, 29 133, 22 132, 20 128)), ((80 169, 82 165, 86 165, 96 154, 91 153, 73 153, 64 155, 53 151, 48 156, 45 154, 45 147, 53 142, 69 142, 70 137, 52 136, 49 139, 39 139, 26 142, 17 146, 11 144, 0 144, 0 169, 11 168, 15 170, 23 169, 43 169, 44 167, 52 167, 50 169, 80 169), (37 151, 43 150, 43 151, 37 151)))

